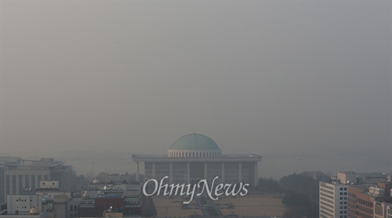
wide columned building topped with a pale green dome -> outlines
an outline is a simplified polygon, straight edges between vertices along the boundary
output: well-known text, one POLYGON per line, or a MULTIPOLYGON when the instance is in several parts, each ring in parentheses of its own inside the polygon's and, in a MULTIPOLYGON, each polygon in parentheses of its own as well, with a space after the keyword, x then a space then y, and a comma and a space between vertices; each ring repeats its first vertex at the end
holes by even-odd
POLYGON ((259 155, 222 155, 220 147, 210 137, 184 135, 167 150, 167 155, 133 155, 137 162, 136 180, 140 182, 139 165, 144 162, 145 181, 168 176, 169 183, 196 183, 215 177, 220 183, 244 182, 257 185, 259 155))

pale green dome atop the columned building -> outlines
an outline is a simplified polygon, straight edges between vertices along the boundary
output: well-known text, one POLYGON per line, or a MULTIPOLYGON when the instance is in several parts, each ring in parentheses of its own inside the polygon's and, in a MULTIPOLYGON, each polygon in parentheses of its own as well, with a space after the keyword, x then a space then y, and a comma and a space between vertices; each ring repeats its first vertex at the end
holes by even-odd
POLYGON ((193 133, 177 139, 170 150, 220 150, 210 137, 193 133))

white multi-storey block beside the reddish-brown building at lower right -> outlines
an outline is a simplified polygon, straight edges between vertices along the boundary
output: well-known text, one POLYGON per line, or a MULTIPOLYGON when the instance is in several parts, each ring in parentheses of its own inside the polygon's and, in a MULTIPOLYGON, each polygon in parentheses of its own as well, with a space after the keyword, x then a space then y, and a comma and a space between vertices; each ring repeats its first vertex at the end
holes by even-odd
POLYGON ((348 217, 348 187, 349 185, 337 181, 320 182, 320 217, 348 217))

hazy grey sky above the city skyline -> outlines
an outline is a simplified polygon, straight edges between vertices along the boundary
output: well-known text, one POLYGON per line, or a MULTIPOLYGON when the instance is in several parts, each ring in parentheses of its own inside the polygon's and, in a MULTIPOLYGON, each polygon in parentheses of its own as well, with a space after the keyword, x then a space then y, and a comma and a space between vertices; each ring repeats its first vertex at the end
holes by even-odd
MULTIPOLYGON (((391 1, 1 1, 1 155, 385 155, 391 1)), ((375 170, 377 171, 377 170, 375 170)))

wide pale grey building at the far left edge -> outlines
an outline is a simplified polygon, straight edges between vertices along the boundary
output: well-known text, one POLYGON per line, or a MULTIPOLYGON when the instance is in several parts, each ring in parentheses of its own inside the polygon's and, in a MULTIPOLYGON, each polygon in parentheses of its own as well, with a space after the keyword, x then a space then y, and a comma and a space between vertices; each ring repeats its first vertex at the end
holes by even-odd
POLYGON ((20 157, 0 157, 0 204, 8 194, 23 194, 35 190, 42 180, 57 180, 59 187, 66 187, 72 167, 53 158, 22 160, 20 157))

